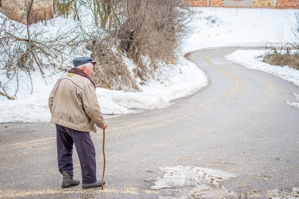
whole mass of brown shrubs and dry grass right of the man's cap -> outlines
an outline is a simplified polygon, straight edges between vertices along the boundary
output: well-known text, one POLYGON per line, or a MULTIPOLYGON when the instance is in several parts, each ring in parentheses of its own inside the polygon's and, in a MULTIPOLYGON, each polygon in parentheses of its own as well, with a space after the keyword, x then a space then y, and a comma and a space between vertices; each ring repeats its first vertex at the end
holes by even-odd
POLYGON ((93 80, 110 90, 138 91, 135 78, 144 84, 155 76, 161 61, 175 64, 193 12, 183 0, 106 1, 109 4, 118 12, 118 20, 109 18, 107 24, 112 25, 96 28, 86 39, 87 50, 99 62, 93 80), (133 61, 133 74, 124 57, 133 61))

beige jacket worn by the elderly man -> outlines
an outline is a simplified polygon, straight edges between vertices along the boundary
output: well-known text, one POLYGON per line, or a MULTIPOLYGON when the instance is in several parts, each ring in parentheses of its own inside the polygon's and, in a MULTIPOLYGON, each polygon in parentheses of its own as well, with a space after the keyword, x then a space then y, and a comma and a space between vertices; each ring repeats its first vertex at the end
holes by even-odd
POLYGON ((81 75, 68 73, 59 78, 49 97, 51 123, 84 132, 96 132, 105 125, 94 85, 81 75))

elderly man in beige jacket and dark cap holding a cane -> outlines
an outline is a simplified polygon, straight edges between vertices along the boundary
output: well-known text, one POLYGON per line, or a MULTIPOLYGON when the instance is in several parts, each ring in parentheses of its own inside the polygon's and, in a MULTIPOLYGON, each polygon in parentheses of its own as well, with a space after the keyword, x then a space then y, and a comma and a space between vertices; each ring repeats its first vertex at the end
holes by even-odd
MULTIPOLYGON (((73 176, 73 145, 75 144, 82 172, 82 188, 99 187, 94 144, 89 132, 107 128, 97 101, 95 85, 90 77, 95 61, 90 57, 73 60, 74 68, 59 78, 49 97, 51 123, 56 124, 58 168, 62 187, 78 185, 73 176)), ((105 182, 104 182, 105 183, 105 182)))

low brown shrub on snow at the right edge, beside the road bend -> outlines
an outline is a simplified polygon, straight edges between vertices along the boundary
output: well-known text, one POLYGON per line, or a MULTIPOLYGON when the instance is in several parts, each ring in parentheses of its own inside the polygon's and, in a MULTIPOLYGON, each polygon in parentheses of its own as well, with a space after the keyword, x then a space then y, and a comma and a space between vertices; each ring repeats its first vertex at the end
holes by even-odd
POLYGON ((299 52, 290 52, 287 50, 277 50, 276 48, 271 48, 271 51, 266 55, 260 56, 263 58, 263 62, 275 66, 289 66, 291 68, 299 70, 299 52))

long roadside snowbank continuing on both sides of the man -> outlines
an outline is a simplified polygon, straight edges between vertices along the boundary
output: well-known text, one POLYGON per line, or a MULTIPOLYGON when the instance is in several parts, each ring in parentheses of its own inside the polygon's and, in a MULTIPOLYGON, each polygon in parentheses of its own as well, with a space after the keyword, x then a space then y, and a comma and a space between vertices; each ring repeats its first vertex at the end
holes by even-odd
MULTIPOLYGON (((135 113, 130 109, 165 108, 171 105, 170 100, 191 95, 208 84, 207 76, 195 64, 184 58, 181 58, 179 63, 176 67, 164 67, 160 71, 160 82, 152 81, 140 86, 143 92, 97 88, 96 93, 103 114, 135 113)), ((32 75, 34 88, 32 94, 27 89, 28 82, 19 82, 21 95, 18 95, 16 100, 0 96, 0 122, 50 121, 48 96, 60 75, 53 76, 52 81, 48 79, 46 84, 36 72, 32 75)))

